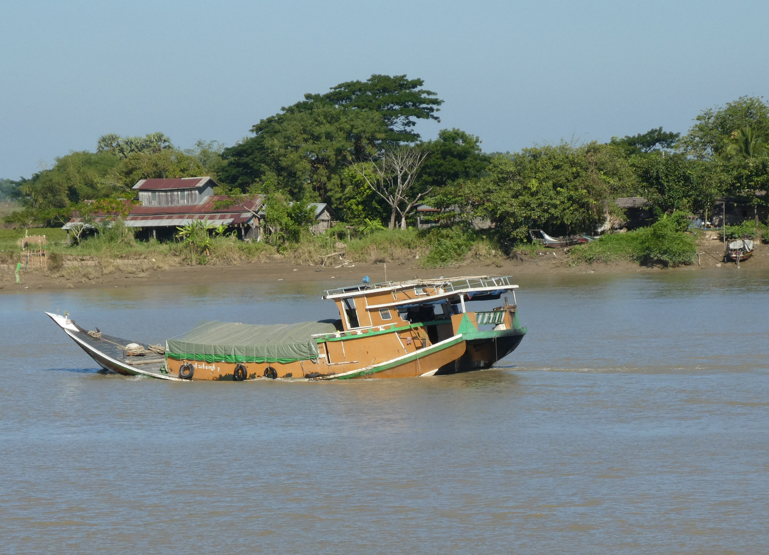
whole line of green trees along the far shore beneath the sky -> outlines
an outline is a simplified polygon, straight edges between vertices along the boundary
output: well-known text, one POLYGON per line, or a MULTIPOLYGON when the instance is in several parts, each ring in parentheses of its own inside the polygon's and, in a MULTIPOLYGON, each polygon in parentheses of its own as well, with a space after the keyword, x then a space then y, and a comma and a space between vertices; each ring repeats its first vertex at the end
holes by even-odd
POLYGON ((426 202, 447 208, 448 224, 469 229, 477 218, 490 220, 503 244, 526 238, 529 228, 592 233, 607 207, 620 212, 612 204, 619 197, 646 198, 654 218, 712 214, 717 199, 731 197, 749 204, 758 221, 766 205, 763 98, 706 109, 685 135, 653 128, 606 143, 504 154, 484 152, 480 138, 456 128, 424 141, 415 127, 440 121, 442 104, 419 78, 371 75, 304 95, 228 148, 198 141, 181 150, 162 133, 104 135, 94 152, 71 152, 32 178, 2 181, 0 194, 24 207, 6 221, 62 221, 85 200, 132 198, 141 178, 200 175, 214 177, 221 184, 216 192, 230 197, 267 194, 287 206, 327 202, 353 226, 405 228, 426 202))

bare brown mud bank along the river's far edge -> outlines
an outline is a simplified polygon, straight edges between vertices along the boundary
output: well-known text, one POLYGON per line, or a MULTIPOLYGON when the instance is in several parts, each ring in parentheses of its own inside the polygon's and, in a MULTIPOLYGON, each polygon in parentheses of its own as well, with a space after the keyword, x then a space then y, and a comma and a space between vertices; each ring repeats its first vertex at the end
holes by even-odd
MULTIPOLYGON (((470 264, 449 268, 423 268, 416 258, 387 263, 348 263, 327 266, 298 264, 284 257, 273 256, 269 261, 239 264, 209 264, 183 266, 171 257, 136 258, 104 261, 95 257, 72 257, 56 271, 28 268, 22 272, 22 284, 15 284, 12 264, 0 264, 0 292, 98 289, 128 287, 136 284, 227 284, 261 283, 265 281, 338 281, 341 285, 356 284, 368 275, 372 282, 409 278, 438 278, 449 275, 513 275, 547 276, 551 274, 638 274, 680 271, 769 271, 769 245, 756 244, 753 257, 737 270, 734 263, 723 262, 721 241, 701 238, 697 241, 699 264, 661 268, 639 266, 632 262, 611 262, 569 265, 564 249, 538 249, 518 252, 512 258, 484 258, 470 264)), ((340 262, 340 261, 338 261, 340 262)))

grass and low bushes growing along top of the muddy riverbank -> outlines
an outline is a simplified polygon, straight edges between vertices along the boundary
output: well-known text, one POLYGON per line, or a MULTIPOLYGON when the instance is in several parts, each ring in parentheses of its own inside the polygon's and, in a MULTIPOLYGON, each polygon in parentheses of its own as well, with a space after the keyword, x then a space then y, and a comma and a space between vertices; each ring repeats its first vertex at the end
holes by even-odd
MULTIPOLYGON (((568 264, 634 261, 637 264, 677 266, 691 264, 696 258, 695 237, 681 231, 682 222, 674 218, 658 221, 650 228, 624 234, 611 234, 589 244, 571 249, 568 264)), ((754 224, 727 227, 727 237, 746 234, 748 228, 758 237, 764 228, 754 224)), ((750 231, 750 230, 748 230, 750 231)), ((211 237, 208 254, 181 242, 135 241, 130 229, 117 226, 67 246, 66 232, 60 228, 40 228, 29 234, 45 234, 48 238, 48 270, 53 274, 77 273, 86 268, 89 274, 112 274, 115 271, 135 273, 148 269, 166 269, 186 264, 248 264, 283 259, 303 265, 340 264, 341 260, 375 264, 415 261, 423 268, 452 268, 462 264, 500 266, 508 258, 491 238, 451 228, 418 231, 379 230, 361 237, 346 236, 345 231, 314 237, 306 235, 293 244, 275 246, 265 242, 243 242, 231 237, 211 237), (331 254, 331 256, 328 256, 331 254), (340 260, 341 259, 341 260, 340 260), (91 269, 88 269, 91 268, 91 269)), ((0 230, 0 262, 18 261, 21 249, 16 244, 24 230, 0 230)), ((520 245, 518 251, 539 248, 520 245)))

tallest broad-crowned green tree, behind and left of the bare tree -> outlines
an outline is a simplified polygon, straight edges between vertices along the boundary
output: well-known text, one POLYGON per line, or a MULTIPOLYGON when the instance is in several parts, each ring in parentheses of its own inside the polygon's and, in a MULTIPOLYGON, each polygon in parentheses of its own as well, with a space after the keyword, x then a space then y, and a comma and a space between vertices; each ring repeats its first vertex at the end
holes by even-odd
POLYGON ((222 152, 221 181, 242 191, 286 191, 339 206, 345 168, 386 145, 419 139, 419 119, 440 121, 443 103, 424 81, 371 75, 281 109, 251 128, 254 137, 222 152))

